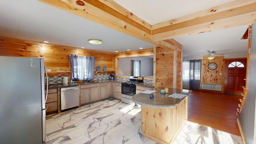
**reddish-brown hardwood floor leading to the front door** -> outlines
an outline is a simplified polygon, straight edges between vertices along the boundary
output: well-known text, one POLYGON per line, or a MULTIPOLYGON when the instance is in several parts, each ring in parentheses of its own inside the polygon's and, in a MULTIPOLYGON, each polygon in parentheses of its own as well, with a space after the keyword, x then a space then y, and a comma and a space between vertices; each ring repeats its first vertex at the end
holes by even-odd
POLYGON ((236 121, 239 98, 193 90, 188 96, 188 121, 241 136, 236 121))

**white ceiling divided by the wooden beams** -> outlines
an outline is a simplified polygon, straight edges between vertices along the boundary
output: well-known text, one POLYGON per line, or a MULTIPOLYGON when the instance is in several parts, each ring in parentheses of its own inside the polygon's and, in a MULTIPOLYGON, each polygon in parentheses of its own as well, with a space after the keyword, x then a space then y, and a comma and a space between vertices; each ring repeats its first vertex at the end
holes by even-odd
MULTIPOLYGON (((232 0, 114 0, 149 24, 157 24, 232 0), (146 2, 146 3, 145 3, 146 2)), ((240 40, 248 25, 175 38, 183 45, 183 56, 246 52, 247 40, 240 40), (198 54, 199 53, 199 54, 198 54)), ((104 52, 153 48, 153 45, 54 8, 37 0, 1 0, 0 36, 49 41, 64 46, 85 47, 104 52), (88 39, 100 39, 92 45, 88 39)))

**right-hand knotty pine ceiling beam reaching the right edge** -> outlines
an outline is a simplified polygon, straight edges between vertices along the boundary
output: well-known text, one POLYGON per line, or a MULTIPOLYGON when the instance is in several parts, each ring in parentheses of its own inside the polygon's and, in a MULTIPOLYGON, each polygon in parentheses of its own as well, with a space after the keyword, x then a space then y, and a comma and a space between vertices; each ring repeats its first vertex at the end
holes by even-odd
POLYGON ((255 12, 256 0, 236 0, 208 10, 153 25, 152 40, 167 40, 190 34, 252 24, 256 22, 256 16, 251 15, 255 12))

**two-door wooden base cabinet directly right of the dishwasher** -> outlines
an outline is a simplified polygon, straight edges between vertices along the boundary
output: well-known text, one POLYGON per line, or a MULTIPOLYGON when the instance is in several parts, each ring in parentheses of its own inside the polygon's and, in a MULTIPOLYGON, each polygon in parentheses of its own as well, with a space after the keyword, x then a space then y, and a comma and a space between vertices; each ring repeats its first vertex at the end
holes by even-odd
POLYGON ((81 104, 100 99, 100 84, 85 84, 80 86, 81 104))

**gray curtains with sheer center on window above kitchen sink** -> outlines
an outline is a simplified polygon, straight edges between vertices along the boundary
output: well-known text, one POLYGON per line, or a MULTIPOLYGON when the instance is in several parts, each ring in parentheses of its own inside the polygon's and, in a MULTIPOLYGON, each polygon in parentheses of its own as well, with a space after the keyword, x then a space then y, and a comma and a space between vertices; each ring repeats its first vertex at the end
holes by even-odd
POLYGON ((94 78, 95 57, 68 55, 71 66, 71 78, 89 81, 94 78))

